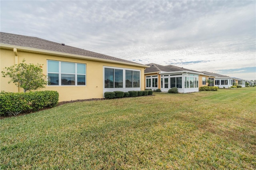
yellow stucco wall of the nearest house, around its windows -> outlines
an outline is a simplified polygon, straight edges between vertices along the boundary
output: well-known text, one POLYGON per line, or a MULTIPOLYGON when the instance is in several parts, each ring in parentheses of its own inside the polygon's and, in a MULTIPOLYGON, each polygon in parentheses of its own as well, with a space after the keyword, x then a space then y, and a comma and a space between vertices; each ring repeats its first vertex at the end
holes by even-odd
MULTIPOLYGON (((86 64, 86 86, 46 86, 39 90, 54 90, 59 93, 59 101, 71 101, 78 99, 103 98, 103 66, 122 67, 128 69, 139 69, 141 71, 141 90, 144 90, 144 67, 134 65, 124 65, 119 63, 108 63, 104 61, 92 61, 73 57, 62 57, 57 55, 30 53, 18 50, 18 63, 25 59, 25 63, 43 64, 44 74, 47 75, 47 60, 67 61, 86 64)), ((0 71, 4 67, 15 64, 13 49, 0 49, 0 71)), ((9 92, 23 92, 14 83, 8 84, 9 78, 0 78, 0 90, 9 92)))

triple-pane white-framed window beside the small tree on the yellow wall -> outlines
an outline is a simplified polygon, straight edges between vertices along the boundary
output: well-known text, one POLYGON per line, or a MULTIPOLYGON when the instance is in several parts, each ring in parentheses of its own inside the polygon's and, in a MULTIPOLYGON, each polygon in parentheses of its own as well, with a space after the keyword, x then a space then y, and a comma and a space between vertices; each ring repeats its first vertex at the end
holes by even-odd
POLYGON ((86 85, 86 64, 47 60, 48 85, 86 85))

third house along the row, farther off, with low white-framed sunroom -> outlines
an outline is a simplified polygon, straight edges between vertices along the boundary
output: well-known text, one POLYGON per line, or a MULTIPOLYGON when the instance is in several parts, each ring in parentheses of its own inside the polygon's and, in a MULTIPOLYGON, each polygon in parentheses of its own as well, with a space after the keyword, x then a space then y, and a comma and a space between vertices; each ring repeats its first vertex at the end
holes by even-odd
POLYGON ((238 81, 237 78, 229 77, 229 76, 221 75, 221 74, 217 74, 217 73, 210 73, 208 71, 202 71, 202 73, 207 74, 207 75, 216 76, 215 77, 215 86, 220 87, 220 88, 228 88, 228 87, 232 86, 233 83, 236 83, 236 84, 244 83, 244 86, 242 86, 242 87, 245 87, 245 81, 242 79, 239 79, 239 81, 238 81))

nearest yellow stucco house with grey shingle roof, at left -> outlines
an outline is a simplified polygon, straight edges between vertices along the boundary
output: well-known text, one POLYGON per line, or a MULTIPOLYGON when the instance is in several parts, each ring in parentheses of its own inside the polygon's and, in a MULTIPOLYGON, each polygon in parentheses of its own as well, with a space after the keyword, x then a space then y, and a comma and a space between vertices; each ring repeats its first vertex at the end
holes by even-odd
MULTIPOLYGON (((132 61, 71 47, 41 38, 0 33, 0 71, 21 63, 43 64, 45 89, 59 93, 59 101, 104 97, 106 91, 144 90, 144 69, 132 61)), ((0 76, 0 91, 22 92, 0 76)))

